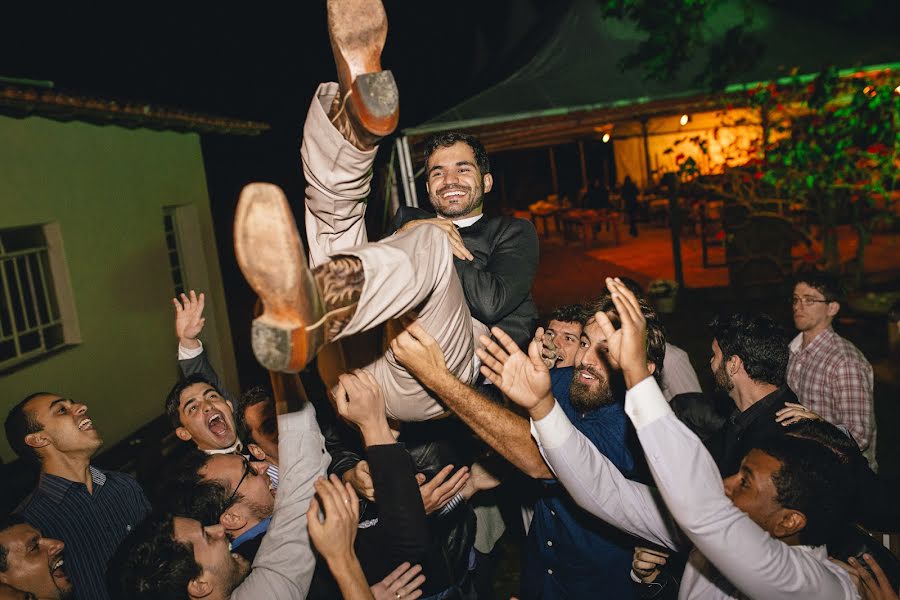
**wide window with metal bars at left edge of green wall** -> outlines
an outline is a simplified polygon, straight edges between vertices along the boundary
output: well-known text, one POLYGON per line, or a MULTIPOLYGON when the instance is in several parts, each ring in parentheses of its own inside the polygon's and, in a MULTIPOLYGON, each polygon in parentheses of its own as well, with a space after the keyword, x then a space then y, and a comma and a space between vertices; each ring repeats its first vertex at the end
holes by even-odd
POLYGON ((52 263, 46 226, 0 229, 0 371, 68 343, 52 263))

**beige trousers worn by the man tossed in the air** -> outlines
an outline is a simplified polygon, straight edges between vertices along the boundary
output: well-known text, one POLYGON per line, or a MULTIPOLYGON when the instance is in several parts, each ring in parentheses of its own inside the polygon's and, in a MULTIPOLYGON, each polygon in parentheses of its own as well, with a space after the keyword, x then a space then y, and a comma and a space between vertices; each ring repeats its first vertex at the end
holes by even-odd
MULTIPOLYGON (((300 149, 307 182, 305 222, 310 265, 316 267, 336 255, 356 256, 366 277, 356 314, 336 339, 415 311, 419 323, 444 351, 447 368, 465 383, 473 383, 478 376, 475 340, 488 328, 469 312, 447 235, 433 225, 421 225, 367 243, 365 199, 375 151, 357 149, 332 126, 326 111, 337 92, 336 83, 319 86, 306 117, 300 149)), ((389 348, 363 368, 381 386, 389 417, 424 421, 446 412, 397 364, 389 348)), ((333 378, 326 378, 329 383, 327 379, 333 383, 333 378)))

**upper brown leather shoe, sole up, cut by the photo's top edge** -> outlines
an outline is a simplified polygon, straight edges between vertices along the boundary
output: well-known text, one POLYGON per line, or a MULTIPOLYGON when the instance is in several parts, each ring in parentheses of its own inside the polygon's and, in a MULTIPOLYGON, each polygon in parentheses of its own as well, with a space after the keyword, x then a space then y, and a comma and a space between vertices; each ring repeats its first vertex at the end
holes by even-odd
POLYGON ((361 149, 397 128, 400 95, 390 71, 381 70, 387 15, 380 0, 328 0, 328 35, 341 86, 332 121, 361 149), (353 136, 337 123, 349 118, 353 136))

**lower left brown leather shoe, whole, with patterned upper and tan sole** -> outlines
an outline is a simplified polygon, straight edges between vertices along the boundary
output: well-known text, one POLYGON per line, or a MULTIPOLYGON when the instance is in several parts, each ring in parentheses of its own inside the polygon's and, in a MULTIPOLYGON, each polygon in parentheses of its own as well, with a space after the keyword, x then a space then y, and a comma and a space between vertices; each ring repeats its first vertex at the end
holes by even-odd
POLYGON ((234 250, 263 304, 251 331, 256 359, 270 371, 300 371, 355 314, 362 263, 342 256, 310 271, 287 198, 268 183, 241 191, 234 250))

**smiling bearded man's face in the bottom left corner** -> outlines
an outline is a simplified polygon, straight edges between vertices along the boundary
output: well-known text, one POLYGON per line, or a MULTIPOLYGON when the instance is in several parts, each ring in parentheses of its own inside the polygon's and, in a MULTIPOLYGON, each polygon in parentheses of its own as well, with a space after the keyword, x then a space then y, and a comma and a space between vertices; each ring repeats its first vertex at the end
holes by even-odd
POLYGON ((6 552, 6 570, 0 571, 0 583, 36 598, 61 600, 72 595, 63 560, 65 544, 61 541, 45 538, 23 523, 0 531, 0 546, 6 552))

